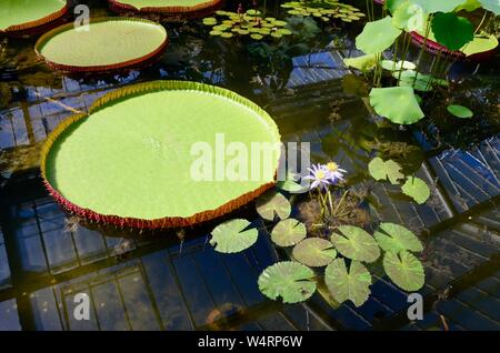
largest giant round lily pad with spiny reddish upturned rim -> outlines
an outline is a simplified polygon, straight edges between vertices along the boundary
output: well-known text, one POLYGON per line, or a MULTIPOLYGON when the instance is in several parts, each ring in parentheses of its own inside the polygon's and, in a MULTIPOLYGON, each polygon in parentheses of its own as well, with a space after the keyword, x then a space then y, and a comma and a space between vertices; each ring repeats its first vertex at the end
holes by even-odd
POLYGON ((157 81, 113 91, 90 115, 64 120, 43 147, 41 168, 50 193, 80 216, 122 226, 183 226, 231 212, 272 188, 279 142, 272 119, 234 92, 157 81), (221 145, 231 142, 241 153, 224 163, 221 145), (256 142, 273 148, 251 155, 256 142), (239 170, 260 175, 233 175, 239 170))

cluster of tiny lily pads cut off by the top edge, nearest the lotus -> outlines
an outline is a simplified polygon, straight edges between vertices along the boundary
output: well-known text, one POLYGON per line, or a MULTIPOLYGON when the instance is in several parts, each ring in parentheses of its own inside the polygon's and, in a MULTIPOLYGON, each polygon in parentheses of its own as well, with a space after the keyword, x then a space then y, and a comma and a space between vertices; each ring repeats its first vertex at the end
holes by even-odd
POLYGON ((281 4, 292 16, 313 17, 328 22, 339 19, 343 22, 359 21, 366 14, 351 4, 338 0, 290 1, 281 4))

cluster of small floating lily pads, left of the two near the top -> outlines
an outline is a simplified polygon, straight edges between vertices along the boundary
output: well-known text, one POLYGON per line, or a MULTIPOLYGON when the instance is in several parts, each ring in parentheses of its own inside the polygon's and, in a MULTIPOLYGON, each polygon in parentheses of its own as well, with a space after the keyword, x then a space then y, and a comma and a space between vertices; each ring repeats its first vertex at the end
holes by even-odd
POLYGON ((231 11, 217 11, 216 16, 203 19, 203 24, 212 27, 210 36, 232 38, 234 36, 249 36, 253 40, 262 40, 266 37, 280 39, 292 34, 286 28, 287 22, 272 17, 262 17, 261 11, 250 9, 244 13, 231 11))

